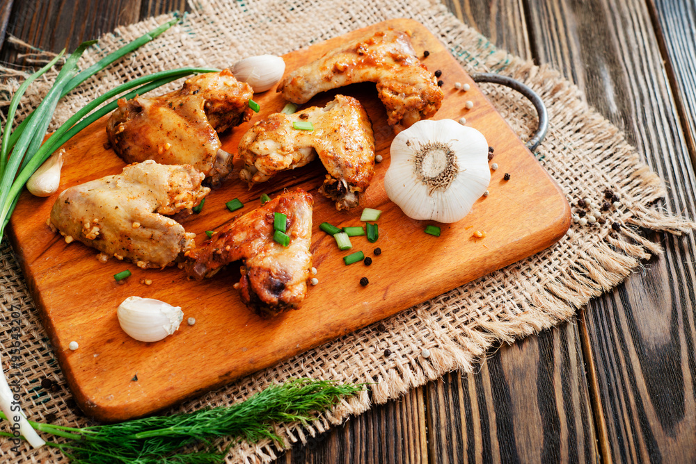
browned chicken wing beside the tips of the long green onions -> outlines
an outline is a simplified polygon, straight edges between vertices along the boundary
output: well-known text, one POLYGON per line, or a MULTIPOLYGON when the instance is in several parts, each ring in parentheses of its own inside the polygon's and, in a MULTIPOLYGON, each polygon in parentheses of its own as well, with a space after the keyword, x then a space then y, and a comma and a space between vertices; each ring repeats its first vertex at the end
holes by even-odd
POLYGON ((252 97, 251 86, 228 69, 200 74, 160 97, 120 99, 106 134, 127 163, 189 164, 205 174, 206 183, 219 185, 232 170, 232 156, 220 149, 218 133, 251 117, 252 97))

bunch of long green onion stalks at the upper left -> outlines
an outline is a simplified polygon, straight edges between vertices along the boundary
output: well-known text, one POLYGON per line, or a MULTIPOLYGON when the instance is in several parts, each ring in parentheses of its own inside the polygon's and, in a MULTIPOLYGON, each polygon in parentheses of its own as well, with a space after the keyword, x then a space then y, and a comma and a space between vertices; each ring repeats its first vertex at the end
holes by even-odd
POLYGON ((58 147, 68 142, 70 138, 86 128, 89 124, 92 124, 100 117, 114 110, 118 106, 118 98, 131 99, 138 94, 144 94, 161 85, 191 74, 219 71, 219 69, 213 68, 184 67, 132 79, 88 103, 84 108, 70 117, 65 124, 42 144, 44 134, 48 129, 59 99, 86 81, 86 79, 111 65, 111 63, 122 56, 125 56, 125 54, 157 38, 158 35, 170 28, 175 22, 177 22, 177 19, 172 19, 162 24, 133 42, 121 47, 117 51, 105 56, 94 65, 84 69, 84 71, 77 72, 77 61, 82 53, 84 53, 85 49, 94 44, 95 41, 82 43, 77 47, 77 50, 65 60, 65 64, 61 72, 58 73, 54 85, 46 94, 46 97, 42 100, 40 105, 33 110, 14 131, 11 131, 17 106, 26 89, 36 78, 55 65, 65 51, 59 53, 58 56, 46 66, 42 67, 34 74, 31 74, 31 76, 19 86, 19 89, 10 101, 7 123, 4 127, 2 142, 0 144, 0 240, 3 238, 4 229, 17 204, 19 194, 22 192, 22 188, 24 188, 31 174, 33 174, 58 147), (132 91, 123 94, 129 90, 132 91), (106 103, 107 101, 109 103, 106 103), (104 104, 104 106, 97 109, 97 107, 102 104, 104 104))

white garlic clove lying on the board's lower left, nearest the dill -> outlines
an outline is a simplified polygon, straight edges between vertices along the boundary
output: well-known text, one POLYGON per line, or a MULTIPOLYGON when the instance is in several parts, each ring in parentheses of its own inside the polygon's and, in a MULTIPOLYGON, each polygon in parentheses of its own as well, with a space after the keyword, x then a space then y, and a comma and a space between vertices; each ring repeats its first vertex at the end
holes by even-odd
POLYGON ((157 342, 171 335, 184 320, 178 306, 152 298, 128 297, 116 311, 121 329, 141 342, 157 342))

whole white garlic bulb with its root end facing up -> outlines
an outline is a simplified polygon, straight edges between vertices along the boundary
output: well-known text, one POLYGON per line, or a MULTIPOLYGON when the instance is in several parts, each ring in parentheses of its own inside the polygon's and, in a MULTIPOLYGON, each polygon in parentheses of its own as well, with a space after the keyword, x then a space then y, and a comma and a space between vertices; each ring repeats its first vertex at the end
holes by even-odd
POLYGON ((452 119, 425 119, 393 140, 384 189, 413 219, 457 222, 491 181, 488 142, 452 119))

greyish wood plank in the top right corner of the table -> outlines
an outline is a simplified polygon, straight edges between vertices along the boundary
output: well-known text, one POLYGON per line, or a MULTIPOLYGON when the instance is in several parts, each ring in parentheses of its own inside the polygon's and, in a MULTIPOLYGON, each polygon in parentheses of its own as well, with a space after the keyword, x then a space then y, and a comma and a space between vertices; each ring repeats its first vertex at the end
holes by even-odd
POLYGON ((649 0, 692 163, 696 163, 696 3, 649 0))

